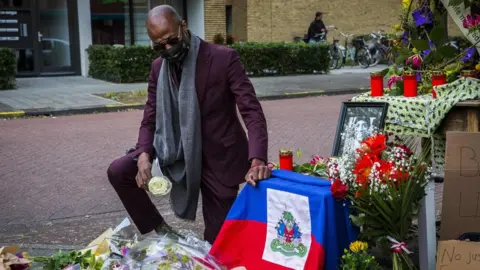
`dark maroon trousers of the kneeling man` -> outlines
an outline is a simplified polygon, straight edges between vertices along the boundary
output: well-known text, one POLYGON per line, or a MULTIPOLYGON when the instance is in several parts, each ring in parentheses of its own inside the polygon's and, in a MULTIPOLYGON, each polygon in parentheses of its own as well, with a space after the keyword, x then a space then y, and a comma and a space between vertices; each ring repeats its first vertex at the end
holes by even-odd
MULTIPOLYGON (((108 168, 108 179, 117 192, 125 209, 142 234, 149 233, 163 222, 163 217, 150 200, 147 192, 139 188, 135 181, 138 168, 132 155, 121 157, 108 168)), ((203 175, 209 175, 204 173, 203 175)), ((204 177, 205 178, 205 177, 204 177)), ((211 179, 211 178, 210 178, 211 179)), ((202 210, 205 222, 204 239, 215 241, 223 222, 235 201, 238 187, 229 194, 218 194, 215 182, 202 179, 202 210)))

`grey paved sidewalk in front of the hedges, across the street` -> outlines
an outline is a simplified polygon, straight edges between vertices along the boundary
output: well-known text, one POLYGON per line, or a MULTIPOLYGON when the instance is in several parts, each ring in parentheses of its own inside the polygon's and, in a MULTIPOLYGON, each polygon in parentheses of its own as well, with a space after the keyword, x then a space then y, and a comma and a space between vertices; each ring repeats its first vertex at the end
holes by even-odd
MULTIPOLYGON (((327 75, 252 78, 259 97, 292 96, 311 92, 348 91, 369 87, 368 69, 345 67, 327 75)), ((0 112, 18 110, 66 110, 119 104, 93 94, 144 90, 146 83, 114 84, 86 77, 19 78, 16 90, 0 91, 0 112)))

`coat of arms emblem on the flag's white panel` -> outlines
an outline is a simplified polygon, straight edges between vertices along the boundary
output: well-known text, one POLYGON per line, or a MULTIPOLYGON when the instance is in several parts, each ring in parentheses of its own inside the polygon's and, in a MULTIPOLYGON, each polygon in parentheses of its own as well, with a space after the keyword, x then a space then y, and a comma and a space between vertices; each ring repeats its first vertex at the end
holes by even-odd
POLYGON ((302 244, 302 232, 292 213, 284 211, 275 228, 278 238, 270 244, 273 251, 285 256, 304 257, 307 254, 307 248, 302 244))

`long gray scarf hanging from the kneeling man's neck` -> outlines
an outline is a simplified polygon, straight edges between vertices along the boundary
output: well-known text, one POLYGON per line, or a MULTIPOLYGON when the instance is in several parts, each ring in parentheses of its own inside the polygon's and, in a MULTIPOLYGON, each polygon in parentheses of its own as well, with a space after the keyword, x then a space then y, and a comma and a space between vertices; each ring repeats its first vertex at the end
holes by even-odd
POLYGON ((195 71, 200 39, 191 34, 183 60, 180 86, 171 64, 163 60, 157 83, 157 121, 154 147, 162 173, 172 182, 170 201, 175 215, 195 220, 202 173, 200 108, 195 71))

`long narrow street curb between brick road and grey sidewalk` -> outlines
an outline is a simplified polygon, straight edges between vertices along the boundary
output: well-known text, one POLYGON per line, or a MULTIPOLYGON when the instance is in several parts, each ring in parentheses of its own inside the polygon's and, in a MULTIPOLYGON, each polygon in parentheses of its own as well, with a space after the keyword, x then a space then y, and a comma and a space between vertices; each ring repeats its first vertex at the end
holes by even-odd
MULTIPOLYGON (((281 99, 293 99, 293 98, 305 98, 314 96, 335 96, 335 95, 348 95, 364 93, 368 89, 348 89, 348 90, 334 90, 334 91, 305 91, 296 93, 285 93, 283 95, 272 96, 259 96, 260 101, 268 100, 281 100, 281 99)), ((0 112, 0 118, 22 118, 22 117, 41 117, 41 116, 65 116, 75 114, 94 114, 94 113, 107 113, 118 112, 125 110, 141 110, 145 106, 144 103, 132 103, 132 104, 107 104, 101 106, 87 106, 76 107, 55 110, 51 108, 44 109, 27 109, 11 112, 0 112)))

